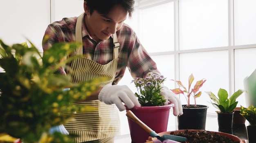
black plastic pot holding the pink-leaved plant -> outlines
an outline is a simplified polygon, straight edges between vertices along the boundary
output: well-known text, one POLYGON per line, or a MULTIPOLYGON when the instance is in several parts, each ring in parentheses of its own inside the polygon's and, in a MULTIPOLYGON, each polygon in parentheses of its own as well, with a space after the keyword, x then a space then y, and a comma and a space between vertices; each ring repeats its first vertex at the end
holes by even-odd
POLYGON ((205 130, 207 108, 209 106, 206 105, 198 105, 198 108, 183 107, 183 115, 177 117, 178 129, 205 130))

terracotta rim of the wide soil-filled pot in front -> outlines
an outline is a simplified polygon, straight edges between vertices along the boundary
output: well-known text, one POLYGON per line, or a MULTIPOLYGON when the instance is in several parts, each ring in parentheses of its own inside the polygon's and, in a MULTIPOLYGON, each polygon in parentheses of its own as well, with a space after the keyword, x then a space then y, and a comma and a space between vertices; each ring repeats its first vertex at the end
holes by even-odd
MULTIPOLYGON (((204 131, 204 130, 189 130, 189 132, 193 132, 193 131, 204 131)), ((175 131, 168 131, 168 132, 160 132, 158 133, 160 137, 162 137, 164 134, 170 134, 171 132, 174 133, 179 133, 179 132, 185 132, 185 130, 175 130, 175 131)), ((208 132, 212 132, 212 131, 208 131, 208 132)), ((244 143, 241 139, 239 139, 237 136, 234 136, 232 134, 227 134, 225 132, 213 132, 213 133, 217 133, 220 134, 222 136, 228 137, 229 139, 232 139, 234 141, 237 141, 239 143, 244 143)), ((156 140, 157 138, 152 138, 152 140, 156 140)))

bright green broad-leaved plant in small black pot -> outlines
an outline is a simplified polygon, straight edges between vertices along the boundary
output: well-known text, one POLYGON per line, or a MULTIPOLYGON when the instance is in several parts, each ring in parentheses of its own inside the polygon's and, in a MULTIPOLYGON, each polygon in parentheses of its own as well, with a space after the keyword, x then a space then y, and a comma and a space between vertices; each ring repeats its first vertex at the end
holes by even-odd
POLYGON ((214 95, 211 91, 206 92, 209 97, 211 98, 211 104, 217 108, 219 113, 231 113, 238 104, 238 101, 236 101, 236 98, 238 98, 242 93, 244 93, 245 90, 239 89, 236 91, 231 97, 229 98, 229 95, 225 89, 219 89, 218 91, 218 97, 214 95))

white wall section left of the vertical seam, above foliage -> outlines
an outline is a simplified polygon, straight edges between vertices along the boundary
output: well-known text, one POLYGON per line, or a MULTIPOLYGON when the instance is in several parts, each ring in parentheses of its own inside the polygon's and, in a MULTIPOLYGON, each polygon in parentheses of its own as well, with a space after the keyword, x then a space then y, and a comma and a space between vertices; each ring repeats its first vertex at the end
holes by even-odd
POLYGON ((42 39, 50 24, 50 0, 0 0, 0 39, 6 44, 29 39, 42 49, 42 39))

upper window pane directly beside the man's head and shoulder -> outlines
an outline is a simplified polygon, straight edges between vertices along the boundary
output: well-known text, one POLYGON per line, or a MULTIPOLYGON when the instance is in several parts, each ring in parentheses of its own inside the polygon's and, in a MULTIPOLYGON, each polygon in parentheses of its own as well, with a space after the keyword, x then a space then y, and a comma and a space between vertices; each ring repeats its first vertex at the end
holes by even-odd
POLYGON ((173 2, 141 9, 140 41, 148 52, 173 51, 173 2))

